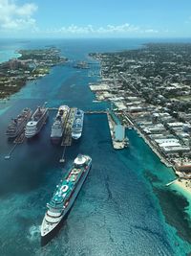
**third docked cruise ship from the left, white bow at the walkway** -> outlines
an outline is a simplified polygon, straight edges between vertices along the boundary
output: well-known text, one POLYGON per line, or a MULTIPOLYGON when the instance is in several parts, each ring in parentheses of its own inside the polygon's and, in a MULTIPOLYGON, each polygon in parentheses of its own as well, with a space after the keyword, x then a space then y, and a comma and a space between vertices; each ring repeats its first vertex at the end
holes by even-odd
POLYGON ((59 106, 51 131, 51 140, 54 144, 61 141, 69 112, 70 107, 68 105, 59 106))

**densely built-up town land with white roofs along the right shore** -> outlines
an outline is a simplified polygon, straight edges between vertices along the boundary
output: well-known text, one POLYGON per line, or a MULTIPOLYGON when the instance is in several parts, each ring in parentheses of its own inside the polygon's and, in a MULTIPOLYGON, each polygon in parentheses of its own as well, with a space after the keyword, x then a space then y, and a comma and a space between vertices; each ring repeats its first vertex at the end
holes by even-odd
POLYGON ((90 84, 96 101, 110 102, 121 124, 135 128, 174 168, 173 182, 191 193, 191 44, 150 43, 90 57, 101 67, 100 81, 90 84))

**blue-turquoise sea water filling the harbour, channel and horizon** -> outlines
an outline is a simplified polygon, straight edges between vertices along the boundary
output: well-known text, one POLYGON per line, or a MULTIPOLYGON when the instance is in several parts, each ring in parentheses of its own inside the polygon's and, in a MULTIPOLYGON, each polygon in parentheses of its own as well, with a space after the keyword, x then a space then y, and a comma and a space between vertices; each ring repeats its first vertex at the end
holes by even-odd
MULTIPOLYGON (((13 58, 19 49, 56 46, 72 60, 87 60, 91 52, 137 49, 141 39, 59 39, 0 40, 0 61, 13 58), (10 52, 11 51, 11 52, 10 52)), ((175 40, 176 41, 176 40, 175 40)), ((107 103, 93 103, 88 83, 98 81, 99 66, 74 69, 70 63, 53 67, 36 82, 28 82, 9 100, 0 102, 0 255, 1 256, 154 256, 189 255, 191 251, 188 203, 165 184, 175 178, 160 163, 133 129, 127 129, 130 145, 113 150, 107 117, 86 115, 82 137, 67 148, 64 164, 62 148, 51 144, 55 111, 39 135, 12 148, 5 131, 12 117, 26 106, 35 109, 69 105, 105 109, 107 103), (53 240, 40 245, 40 225, 46 203, 56 184, 78 152, 93 158, 93 168, 74 202, 63 226, 53 240)), ((191 254, 190 254, 191 255, 191 254)))

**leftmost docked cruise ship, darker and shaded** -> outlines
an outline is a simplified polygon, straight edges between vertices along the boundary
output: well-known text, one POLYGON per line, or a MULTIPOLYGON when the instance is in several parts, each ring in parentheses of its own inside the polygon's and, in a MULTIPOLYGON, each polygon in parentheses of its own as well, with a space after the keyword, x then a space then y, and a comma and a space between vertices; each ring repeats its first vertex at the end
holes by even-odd
POLYGON ((28 121, 32 116, 32 110, 30 108, 24 108, 22 112, 14 119, 11 120, 11 124, 6 130, 6 135, 9 138, 18 136, 26 127, 28 121))

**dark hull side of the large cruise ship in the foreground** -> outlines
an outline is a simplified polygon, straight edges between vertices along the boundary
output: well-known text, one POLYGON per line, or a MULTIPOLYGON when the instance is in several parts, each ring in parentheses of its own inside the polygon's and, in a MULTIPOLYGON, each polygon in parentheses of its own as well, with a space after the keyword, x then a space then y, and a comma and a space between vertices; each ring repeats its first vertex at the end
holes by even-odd
POLYGON ((44 230, 46 230, 46 225, 47 225, 46 215, 45 215, 45 217, 42 221, 42 226, 41 226, 41 244, 42 245, 48 244, 53 239, 54 235, 59 231, 59 228, 61 227, 63 221, 66 220, 66 218, 74 204, 74 200, 77 197, 87 175, 89 174, 91 167, 92 167, 92 163, 90 164, 88 170, 86 170, 86 172, 84 172, 84 174, 82 175, 77 187, 74 190, 73 197, 70 199, 70 202, 69 202, 67 208, 64 210, 64 213, 59 218, 59 221, 54 223, 52 225, 52 229, 50 229, 49 232, 47 232, 47 233, 44 232, 44 230))

